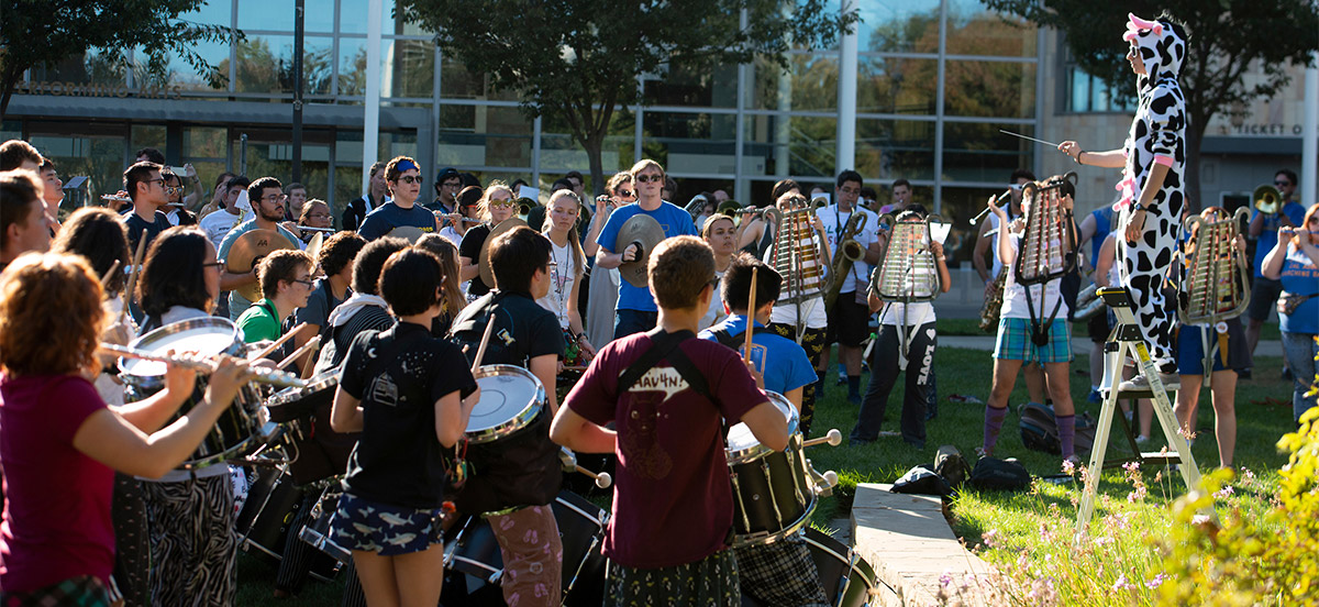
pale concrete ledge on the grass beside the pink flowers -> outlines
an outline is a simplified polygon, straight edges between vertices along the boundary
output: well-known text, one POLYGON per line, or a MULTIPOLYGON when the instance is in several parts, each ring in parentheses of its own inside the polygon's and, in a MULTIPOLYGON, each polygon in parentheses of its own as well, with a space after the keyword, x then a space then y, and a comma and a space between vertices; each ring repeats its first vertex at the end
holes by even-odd
MULTIPOLYGON (((983 579, 992 567, 971 554, 952 534, 938 497, 893 494, 890 484, 856 486, 852 504, 852 538, 857 554, 874 569, 876 591, 871 604, 940 604, 939 578, 952 577, 955 591, 967 575, 983 579)), ((962 604, 984 604, 968 585, 971 595, 958 596, 962 604)))

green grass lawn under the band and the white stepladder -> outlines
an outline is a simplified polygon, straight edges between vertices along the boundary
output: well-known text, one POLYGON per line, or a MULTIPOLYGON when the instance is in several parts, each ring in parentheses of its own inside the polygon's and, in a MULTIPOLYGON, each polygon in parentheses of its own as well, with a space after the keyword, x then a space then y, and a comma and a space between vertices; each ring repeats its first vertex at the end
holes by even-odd
MULTIPOLYGON (((975 321, 948 322, 958 323, 958 326, 964 323, 966 327, 976 331, 973 334, 981 334, 975 326, 975 321)), ((944 323, 946 321, 939 321, 940 331, 943 331, 944 323)), ((1256 360, 1256 367, 1265 369, 1277 369, 1281 364, 1277 358, 1258 358, 1256 360)), ((856 483, 893 482, 913 466, 933 466, 934 453, 940 445, 955 445, 968 459, 973 459, 975 447, 981 441, 984 405, 948 402, 947 397, 958 393, 973 396, 980 401, 988 400, 992 367, 993 360, 985 351, 959 348, 939 348, 936 351, 938 417, 927 424, 925 449, 914 449, 897 437, 881 438, 867 446, 847 446, 845 437, 856 422, 856 409, 847 402, 847 388, 834 385, 834 375, 830 373, 824 399, 816 405, 813 434, 823 435, 830 428, 838 428, 843 433, 844 442, 838 447, 827 445, 811 447, 807 450, 807 457, 814 462, 816 470, 820 472, 834 470, 842 480, 836 495, 822 500, 813 517, 813 524, 827 529, 831 527, 831 520, 847 517, 856 483)), ((1075 373, 1076 369, 1087 368, 1087 358, 1078 355, 1072 364, 1072 399, 1078 413, 1089 412, 1097 420, 1099 405, 1086 402, 1089 379, 1086 375, 1075 373)), ((1274 443, 1283 433, 1293 430, 1290 384, 1278 380, 1277 373, 1260 375, 1265 377, 1241 381, 1237 387, 1236 463, 1239 468, 1250 470, 1257 476, 1249 482, 1239 482, 1236 494, 1229 497, 1229 501, 1248 511, 1265 507, 1272 496, 1277 479, 1275 471, 1286 462, 1286 458, 1275 451, 1274 443), (1266 399, 1273 399, 1274 404, 1268 404, 1266 399)), ((865 380, 867 377, 863 377, 863 391, 865 380)), ((902 406, 901 392, 900 381, 889 401, 885 430, 897 429, 902 406)), ((1021 443, 1016 406, 1026 400, 1025 383, 1018 381, 1012 396, 1012 413, 1004 422, 1004 430, 998 439, 997 454, 998 457, 1018 458, 1034 475, 1055 475, 1059 472, 1060 463, 1057 457, 1026 450, 1021 443)), ((1219 457, 1212 431, 1213 409, 1208 402, 1207 391, 1202 401, 1198 421, 1200 434, 1192 453, 1200 468, 1208 471, 1219 464, 1219 457)), ((1115 431, 1120 431, 1120 426, 1115 426, 1115 431)), ((1154 434, 1158 435, 1158 431, 1154 434)), ((1159 442, 1161 439, 1155 438, 1154 450, 1158 449, 1159 442)), ((1126 449, 1125 441, 1113 441, 1107 459, 1115 461, 1129 454, 1130 450, 1126 449)), ((1140 478, 1149 486, 1148 495, 1136 503, 1126 501, 1128 494, 1133 491, 1133 484, 1122 470, 1105 472, 1100 484, 1100 492, 1104 497, 1096 508, 1093 530, 1096 534, 1113 533, 1115 525, 1126 525, 1132 529, 1130 533, 1115 540, 1113 544, 1115 550, 1121 550, 1115 554, 1129 554, 1129 557, 1124 557, 1122 562, 1129 562, 1130 573, 1126 575, 1132 579, 1145 577, 1144 574, 1153 562, 1153 552, 1141 542, 1141 537, 1158 536, 1162 529, 1167 528, 1170 520, 1167 504, 1184 492, 1179 476, 1165 472, 1155 482, 1157 474, 1153 467, 1142 471, 1140 478), (1142 562, 1146 563, 1146 569, 1140 569, 1142 562)), ((1053 540, 1070 536, 1070 525, 1076 517, 1072 500, 1079 499, 1079 484, 1058 486, 1043 482, 1037 482, 1030 492, 976 494, 964 491, 951 508, 954 530, 971 546, 985 544, 981 537, 992 530, 988 542, 992 546, 983 546, 985 549, 983 556, 1000 566, 1012 566, 1018 557, 1026 556, 1028 566, 1046 569, 1049 562, 1046 557, 1057 559, 1066 556, 1067 542, 1053 542, 1053 540), (1046 529, 1047 533, 1042 529, 1046 529), (1047 546, 1051 544, 1060 548, 1049 549, 1047 546), (1035 558, 1035 561, 1029 561, 1030 558, 1035 558)), ((323 606, 338 603, 343 586, 342 579, 334 585, 309 582, 297 599, 270 599, 276 569, 253 557, 240 556, 240 589, 236 604, 323 606)), ((1111 567, 1107 575, 1116 578, 1119 571, 1111 567)), ((1108 578, 1099 582, 1104 581, 1109 586, 1113 583, 1108 578)), ((1126 603, 1125 599, 1120 602, 1126 603)))

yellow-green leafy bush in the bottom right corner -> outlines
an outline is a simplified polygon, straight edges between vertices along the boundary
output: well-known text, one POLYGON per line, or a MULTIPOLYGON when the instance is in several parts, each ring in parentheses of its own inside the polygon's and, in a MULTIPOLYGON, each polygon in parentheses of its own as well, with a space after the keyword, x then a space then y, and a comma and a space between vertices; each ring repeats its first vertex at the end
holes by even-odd
MULTIPOLYGON (((1319 389, 1319 377, 1315 388, 1319 389)), ((1278 441, 1291 453, 1278 495, 1262 516, 1239 509, 1219 520, 1202 513, 1232 480, 1217 471, 1177 500, 1173 533, 1161 542, 1170 583, 1161 604, 1315 604, 1319 598, 1319 408, 1278 441)))

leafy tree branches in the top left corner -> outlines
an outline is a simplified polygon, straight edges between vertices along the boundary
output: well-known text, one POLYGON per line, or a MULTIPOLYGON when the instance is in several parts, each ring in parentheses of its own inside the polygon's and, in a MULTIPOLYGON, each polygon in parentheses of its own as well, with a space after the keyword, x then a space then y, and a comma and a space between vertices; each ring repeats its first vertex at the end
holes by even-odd
POLYGON ((226 74, 198 54, 197 42, 228 42, 241 33, 219 25, 179 18, 206 0, 7 0, 0 12, 0 120, 22 74, 57 65, 88 50, 102 59, 127 63, 124 51, 141 49, 152 73, 164 74, 169 58, 182 57, 211 86, 226 74))

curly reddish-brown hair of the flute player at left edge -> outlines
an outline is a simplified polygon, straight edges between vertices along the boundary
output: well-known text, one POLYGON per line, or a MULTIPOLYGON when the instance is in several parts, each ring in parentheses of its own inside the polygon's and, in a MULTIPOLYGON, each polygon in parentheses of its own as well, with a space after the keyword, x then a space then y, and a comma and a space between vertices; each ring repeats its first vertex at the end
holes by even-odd
POLYGON ((0 368, 16 376, 96 368, 100 300, 100 281, 80 256, 20 256, 0 273, 0 368))

